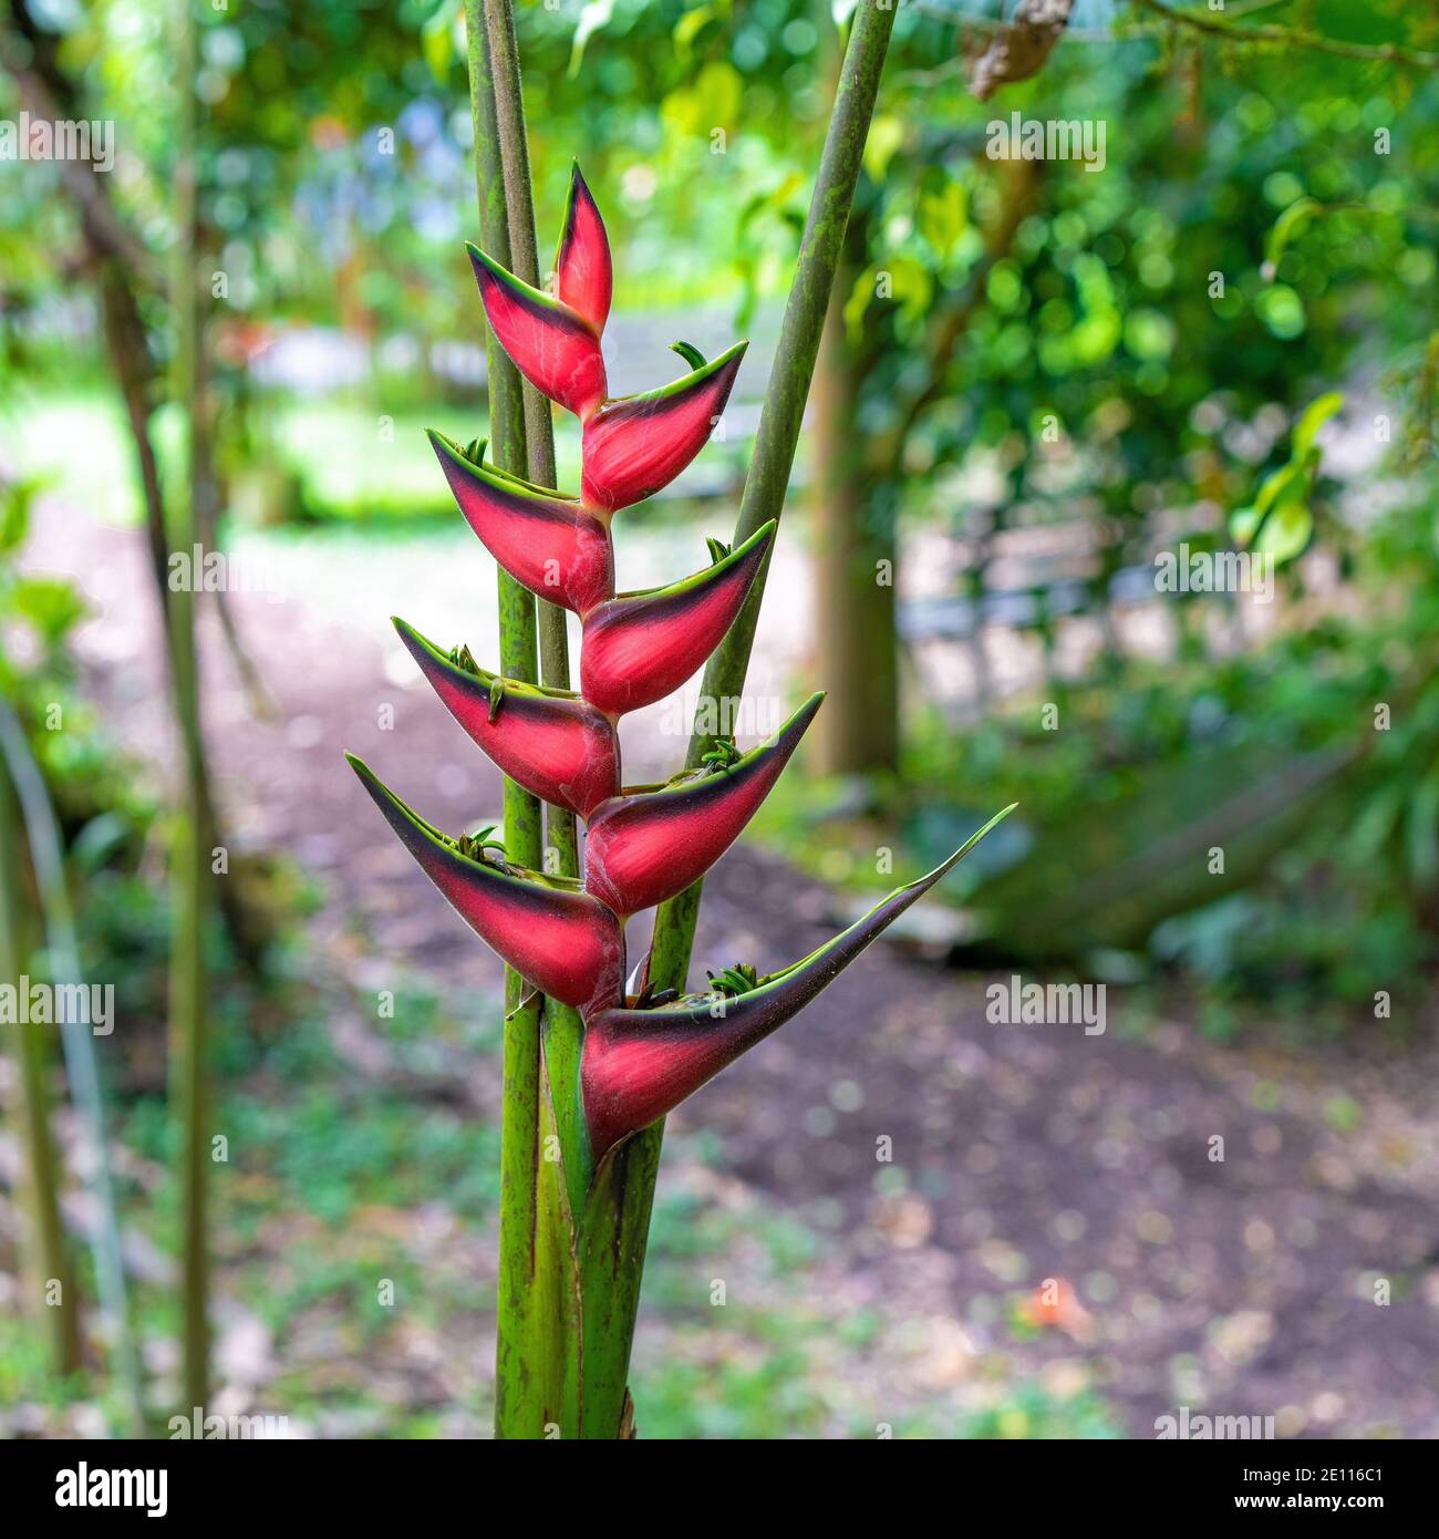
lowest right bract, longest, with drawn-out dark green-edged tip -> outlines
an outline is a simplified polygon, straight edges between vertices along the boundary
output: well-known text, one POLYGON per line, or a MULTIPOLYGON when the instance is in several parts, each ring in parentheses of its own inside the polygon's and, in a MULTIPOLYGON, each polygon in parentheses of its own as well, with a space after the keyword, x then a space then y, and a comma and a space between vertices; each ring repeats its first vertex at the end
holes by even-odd
POLYGON ((673 1005, 614 1005, 585 1023, 580 1087, 594 1157, 671 1113, 686 1096, 796 1016, 845 966, 950 871, 1013 808, 928 876, 891 893, 802 962, 726 997, 691 994, 673 1005))

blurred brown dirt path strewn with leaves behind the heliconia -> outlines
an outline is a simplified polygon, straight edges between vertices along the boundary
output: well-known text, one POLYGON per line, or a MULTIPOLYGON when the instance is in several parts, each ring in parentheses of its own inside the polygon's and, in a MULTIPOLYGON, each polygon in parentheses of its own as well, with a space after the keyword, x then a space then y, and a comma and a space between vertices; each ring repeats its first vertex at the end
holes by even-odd
MULTIPOLYGON (((163 756, 139 540, 46 506, 35 565, 75 573, 78 551, 102 609, 83 649, 125 736, 163 756)), ((352 953, 368 937, 357 977, 403 966, 456 994, 488 990, 492 957, 340 762, 362 753, 445 826, 497 806, 489 765, 388 662, 383 609, 345 608, 349 566, 372 579, 386 562, 406 582, 423 569, 411 548, 371 546, 314 562, 325 602, 237 596, 282 708, 271 725, 252 720, 206 633, 222 797, 237 842, 282 846, 323 882, 323 942, 351 937, 352 953), (392 731, 379 726, 386 705, 392 731)), ((440 580, 452 596, 452 574, 440 580)), ((403 613, 428 631, 428 608, 416 588, 403 613)), ((773 676, 785 659, 762 662, 773 676)), ((823 888, 740 848, 706 886, 696 959, 777 965, 836 917, 823 888)), ((1097 1387, 1136 1436, 1180 1405, 1276 1416, 1280 1436, 1439 1436, 1434 1045, 1397 1054, 1356 1034, 1302 1054, 1220 1050, 1177 1020, 1125 1031, 1113 991, 1102 1036, 997 1027, 985 982, 877 946, 826 1007, 673 1119, 719 1136, 722 1171, 748 1196, 830 1237, 806 1293, 836 1322, 879 1317, 863 1348, 877 1417, 1037 1377, 1060 1394, 1097 1387), (1016 1331, 1016 1297, 1047 1277, 1068 1279, 1080 1308, 1067 1328, 1016 1331)), ((472 1071, 492 1085, 494 1065, 472 1071)))

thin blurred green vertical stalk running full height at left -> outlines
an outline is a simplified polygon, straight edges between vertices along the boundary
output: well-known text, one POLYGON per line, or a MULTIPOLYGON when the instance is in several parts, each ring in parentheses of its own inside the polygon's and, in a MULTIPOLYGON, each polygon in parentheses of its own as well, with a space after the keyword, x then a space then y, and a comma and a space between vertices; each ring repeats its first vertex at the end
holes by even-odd
MULTIPOLYGON (((171 500, 171 551, 189 551, 195 536, 200 431, 195 352, 200 294, 195 282, 195 22, 191 0, 177 0, 177 160, 174 175, 175 251, 171 306, 175 322, 172 394, 185 412, 185 489, 171 500)), ((183 1410, 209 1400, 209 1139, 211 1085, 206 1020, 205 914, 209 902, 205 850, 205 748, 200 725, 195 600, 192 585, 169 589, 171 679, 183 748, 183 796, 172 823, 169 1047, 171 1099, 180 1125, 183 1410)))

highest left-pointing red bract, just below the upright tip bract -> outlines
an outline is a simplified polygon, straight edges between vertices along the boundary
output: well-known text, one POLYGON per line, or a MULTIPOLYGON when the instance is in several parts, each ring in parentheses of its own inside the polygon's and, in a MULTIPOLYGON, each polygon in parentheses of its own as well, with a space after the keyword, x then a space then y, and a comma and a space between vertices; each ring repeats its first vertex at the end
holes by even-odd
POLYGON ((485 314, 500 346, 526 380, 580 420, 608 394, 594 326, 568 305, 506 272, 479 246, 466 246, 485 314))

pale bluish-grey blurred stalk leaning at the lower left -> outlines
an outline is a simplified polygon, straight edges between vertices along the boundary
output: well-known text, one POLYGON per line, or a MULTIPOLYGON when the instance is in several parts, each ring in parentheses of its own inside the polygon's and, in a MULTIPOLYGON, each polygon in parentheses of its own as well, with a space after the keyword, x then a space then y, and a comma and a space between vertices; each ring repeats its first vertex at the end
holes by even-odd
MULTIPOLYGON (((57 986, 78 988, 83 982, 80 948, 75 940, 69 893, 65 886, 60 825, 55 822, 55 810, 51 806, 40 770, 31 757, 25 728, 3 697, 0 697, 0 762, 8 768, 20 800, 25 839, 29 845, 35 886, 40 891, 40 911, 45 917, 45 946, 49 954, 51 982, 57 986)), ((125 1291, 120 1222, 109 1179, 109 1140, 105 1131, 105 1100, 95 1068, 94 1039, 85 1022, 66 1020, 60 1028, 60 1040, 65 1047, 65 1074, 69 1080, 71 1100, 85 1125, 92 1151, 89 1190, 95 1203, 97 1222, 91 1230, 91 1254, 98 1282, 100 1308, 109 1324, 120 1379, 125 1384, 131 1436, 143 1437, 145 1393, 140 1353, 135 1348, 125 1291)))

